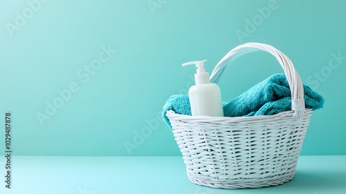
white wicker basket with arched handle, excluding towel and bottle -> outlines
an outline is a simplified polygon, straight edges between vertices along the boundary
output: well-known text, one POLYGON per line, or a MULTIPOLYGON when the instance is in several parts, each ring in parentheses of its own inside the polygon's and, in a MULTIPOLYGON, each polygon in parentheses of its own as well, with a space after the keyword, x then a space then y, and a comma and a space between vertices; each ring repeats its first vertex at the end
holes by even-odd
POLYGON ((210 76, 217 82, 235 58, 267 51, 280 62, 292 94, 292 110, 271 116, 211 117, 175 114, 170 119, 189 179, 213 188, 275 186, 293 178, 311 109, 304 107, 302 81, 289 58, 260 43, 247 43, 230 51, 210 76))

